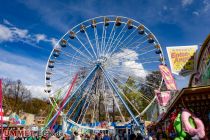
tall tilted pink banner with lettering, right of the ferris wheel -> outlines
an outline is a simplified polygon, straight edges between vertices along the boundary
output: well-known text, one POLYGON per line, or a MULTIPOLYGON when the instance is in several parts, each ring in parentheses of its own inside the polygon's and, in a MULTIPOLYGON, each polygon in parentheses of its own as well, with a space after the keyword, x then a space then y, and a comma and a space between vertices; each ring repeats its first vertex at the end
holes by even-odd
POLYGON ((159 65, 161 75, 165 81, 168 90, 177 90, 175 80, 171 71, 165 65, 159 65))

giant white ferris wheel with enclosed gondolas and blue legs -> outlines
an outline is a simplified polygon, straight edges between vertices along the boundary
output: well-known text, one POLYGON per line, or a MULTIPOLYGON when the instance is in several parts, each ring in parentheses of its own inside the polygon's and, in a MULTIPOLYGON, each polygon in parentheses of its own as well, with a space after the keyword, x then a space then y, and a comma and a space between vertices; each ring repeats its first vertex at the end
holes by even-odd
POLYGON ((54 46, 45 92, 57 115, 79 127, 95 129, 83 124, 111 122, 116 114, 122 122, 132 119, 138 126, 136 116, 155 99, 138 85, 160 88, 162 78, 158 84, 147 80, 160 64, 165 64, 161 46, 143 24, 122 16, 95 17, 70 29, 54 46), (131 93, 143 102, 141 109, 129 98, 131 93))

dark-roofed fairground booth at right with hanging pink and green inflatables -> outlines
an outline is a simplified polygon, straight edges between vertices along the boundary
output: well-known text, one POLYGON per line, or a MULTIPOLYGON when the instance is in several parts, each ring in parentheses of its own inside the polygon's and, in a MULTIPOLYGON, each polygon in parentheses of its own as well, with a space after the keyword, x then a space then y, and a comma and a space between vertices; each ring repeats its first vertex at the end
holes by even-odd
POLYGON ((210 138, 210 35, 199 50, 196 63, 196 72, 191 75, 189 86, 183 88, 169 104, 159 124, 164 125, 168 133, 180 127, 178 133, 183 137, 205 135, 205 138, 210 138), (205 134, 201 132, 202 129, 205 129, 205 134))

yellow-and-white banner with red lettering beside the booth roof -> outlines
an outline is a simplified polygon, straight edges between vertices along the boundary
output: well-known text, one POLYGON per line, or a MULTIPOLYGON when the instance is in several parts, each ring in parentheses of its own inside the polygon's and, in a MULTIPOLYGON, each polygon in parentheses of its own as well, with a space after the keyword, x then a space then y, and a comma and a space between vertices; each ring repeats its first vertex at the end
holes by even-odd
POLYGON ((171 71, 186 76, 195 72, 197 45, 167 47, 171 71))

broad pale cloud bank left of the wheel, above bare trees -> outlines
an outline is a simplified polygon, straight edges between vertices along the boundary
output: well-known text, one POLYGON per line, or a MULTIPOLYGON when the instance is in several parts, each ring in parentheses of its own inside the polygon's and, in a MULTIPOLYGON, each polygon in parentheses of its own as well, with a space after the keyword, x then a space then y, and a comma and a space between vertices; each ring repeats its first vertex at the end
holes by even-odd
POLYGON ((30 89, 33 97, 44 97, 45 63, 1 50, 0 77, 20 79, 30 89))

